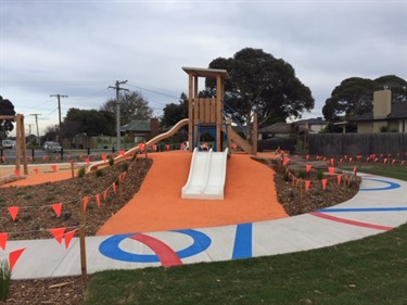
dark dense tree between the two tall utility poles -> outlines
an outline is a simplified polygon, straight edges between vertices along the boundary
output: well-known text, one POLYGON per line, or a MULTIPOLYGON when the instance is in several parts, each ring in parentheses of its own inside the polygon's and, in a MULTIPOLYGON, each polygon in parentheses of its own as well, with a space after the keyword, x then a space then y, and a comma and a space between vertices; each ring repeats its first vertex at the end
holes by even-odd
POLYGON ((115 124, 115 116, 109 111, 69 109, 62 124, 62 134, 67 139, 79 134, 88 137, 114 136, 115 124))

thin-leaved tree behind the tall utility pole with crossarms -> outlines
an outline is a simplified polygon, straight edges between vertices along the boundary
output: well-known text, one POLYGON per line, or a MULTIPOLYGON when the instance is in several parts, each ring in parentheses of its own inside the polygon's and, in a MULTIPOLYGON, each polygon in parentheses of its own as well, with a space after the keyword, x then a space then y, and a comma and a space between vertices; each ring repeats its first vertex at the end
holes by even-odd
MULTIPOLYGON (((107 111, 116 117, 116 99, 105 102, 101 111, 107 111)), ((120 94, 120 125, 129 124, 131 120, 148 120, 153 116, 153 110, 141 92, 126 92, 120 94)))

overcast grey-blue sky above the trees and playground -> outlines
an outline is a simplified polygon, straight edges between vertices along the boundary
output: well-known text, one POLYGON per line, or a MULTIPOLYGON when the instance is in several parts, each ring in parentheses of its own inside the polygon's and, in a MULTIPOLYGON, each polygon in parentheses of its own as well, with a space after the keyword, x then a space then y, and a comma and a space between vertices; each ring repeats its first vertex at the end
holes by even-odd
MULTIPOLYGON (((321 115, 348 77, 407 78, 407 1, 0 0, 0 96, 26 124, 99 109, 116 80, 154 115, 188 93, 182 66, 207 67, 243 48, 290 63, 321 115)), ((201 87, 203 89, 203 87, 201 87)))

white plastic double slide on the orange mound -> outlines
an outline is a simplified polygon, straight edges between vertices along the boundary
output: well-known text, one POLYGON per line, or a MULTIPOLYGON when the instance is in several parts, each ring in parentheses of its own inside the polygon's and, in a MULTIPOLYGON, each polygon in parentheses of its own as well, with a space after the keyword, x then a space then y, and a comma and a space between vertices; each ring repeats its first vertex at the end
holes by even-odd
POLYGON ((187 185, 182 188, 182 199, 222 200, 226 180, 228 149, 225 152, 193 151, 187 185))

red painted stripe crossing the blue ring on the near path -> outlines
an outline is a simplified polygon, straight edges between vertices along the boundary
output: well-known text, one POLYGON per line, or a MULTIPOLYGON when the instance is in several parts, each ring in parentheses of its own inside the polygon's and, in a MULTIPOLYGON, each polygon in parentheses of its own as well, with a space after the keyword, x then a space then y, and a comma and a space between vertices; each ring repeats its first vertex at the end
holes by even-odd
POLYGON ((130 237, 130 239, 142 242, 154 251, 164 267, 182 265, 182 260, 178 257, 177 253, 164 242, 144 234, 136 234, 130 237))

